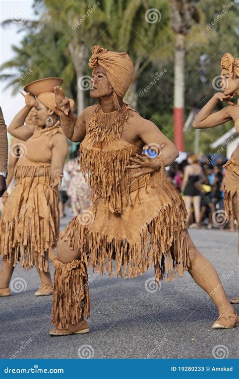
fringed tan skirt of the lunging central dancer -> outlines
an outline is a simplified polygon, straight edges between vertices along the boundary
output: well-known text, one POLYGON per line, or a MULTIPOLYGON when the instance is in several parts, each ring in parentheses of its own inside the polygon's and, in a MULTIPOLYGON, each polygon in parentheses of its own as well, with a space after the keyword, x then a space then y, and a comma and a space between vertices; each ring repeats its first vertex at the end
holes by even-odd
POLYGON ((119 277, 136 277, 153 265, 156 280, 166 275, 172 281, 190 264, 185 203, 164 172, 141 176, 138 183, 130 187, 132 205, 122 194, 121 214, 98 198, 59 237, 73 249, 77 236, 79 259, 93 271, 112 275, 115 260, 119 277))

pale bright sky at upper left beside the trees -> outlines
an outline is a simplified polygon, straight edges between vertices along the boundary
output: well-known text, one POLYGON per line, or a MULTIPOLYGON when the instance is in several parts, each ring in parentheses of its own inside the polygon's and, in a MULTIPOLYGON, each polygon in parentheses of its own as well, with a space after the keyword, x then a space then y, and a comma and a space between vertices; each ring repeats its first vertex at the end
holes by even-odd
MULTIPOLYGON (((0 22, 7 19, 33 19, 32 0, 0 0, 0 22)), ((11 45, 20 46, 20 40, 24 35, 24 31, 18 33, 19 24, 13 23, 5 28, 0 26, 0 65, 12 59, 14 52, 11 45)), ((6 70, 6 73, 10 70, 6 70)), ((4 72, 2 72, 4 73, 4 72)), ((11 90, 4 90, 8 81, 0 81, 0 104, 2 106, 5 122, 7 126, 12 121, 21 108, 24 107, 25 101, 23 96, 18 93, 11 95, 11 90)))

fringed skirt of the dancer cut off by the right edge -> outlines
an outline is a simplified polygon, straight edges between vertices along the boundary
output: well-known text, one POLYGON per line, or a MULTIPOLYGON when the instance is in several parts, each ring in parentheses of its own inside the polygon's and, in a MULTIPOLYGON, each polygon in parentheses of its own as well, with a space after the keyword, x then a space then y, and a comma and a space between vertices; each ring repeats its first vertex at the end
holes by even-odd
POLYGON ((234 158, 230 158, 223 166, 226 168, 225 185, 224 185, 224 210, 227 221, 234 223, 239 215, 239 162, 234 158), (236 214, 233 213, 233 197, 237 195, 236 214))

